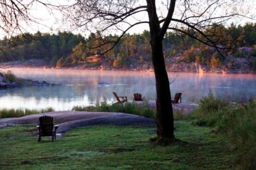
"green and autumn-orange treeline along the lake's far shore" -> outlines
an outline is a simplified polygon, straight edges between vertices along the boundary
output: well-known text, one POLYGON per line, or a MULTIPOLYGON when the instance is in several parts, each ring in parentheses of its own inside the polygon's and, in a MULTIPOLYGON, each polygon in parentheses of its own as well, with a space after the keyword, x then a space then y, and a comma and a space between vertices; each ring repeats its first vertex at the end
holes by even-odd
MULTIPOLYGON (((184 28, 184 31, 189 30, 184 28)), ((218 41, 214 38, 222 38, 217 45, 227 49, 221 50, 224 56, 233 57, 233 60, 228 60, 231 65, 236 58, 241 58, 247 60, 252 70, 256 70, 256 24, 231 24, 228 27, 218 25, 214 30, 208 31, 218 35, 212 37, 212 40, 218 41)), ((111 44, 100 45, 107 41, 115 41, 117 38, 117 35, 111 34, 102 36, 100 32, 91 33, 88 38, 84 38, 81 34, 76 35, 71 32, 49 34, 39 31, 35 34, 12 36, 10 39, 4 37, 0 40, 0 62, 44 59, 52 67, 72 67, 77 64, 95 67, 102 63, 88 62, 86 57, 105 52, 111 48, 111 44), (92 48, 94 46, 99 48, 92 48)), ((180 62, 195 62, 212 69, 221 67, 224 62, 223 57, 214 48, 180 32, 167 32, 163 46, 166 60, 181 56, 180 62)), ((113 50, 104 54, 105 66, 129 69, 132 66, 147 64, 150 68, 152 66, 150 52, 149 31, 141 34, 125 34, 113 50)))

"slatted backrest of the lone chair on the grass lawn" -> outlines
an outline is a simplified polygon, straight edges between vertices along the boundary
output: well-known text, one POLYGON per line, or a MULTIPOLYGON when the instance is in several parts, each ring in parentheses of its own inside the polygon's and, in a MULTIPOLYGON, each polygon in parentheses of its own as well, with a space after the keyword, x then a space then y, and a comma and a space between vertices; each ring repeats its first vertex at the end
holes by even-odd
POLYGON ((53 118, 44 116, 39 118, 40 128, 43 135, 51 135, 53 131, 53 118))

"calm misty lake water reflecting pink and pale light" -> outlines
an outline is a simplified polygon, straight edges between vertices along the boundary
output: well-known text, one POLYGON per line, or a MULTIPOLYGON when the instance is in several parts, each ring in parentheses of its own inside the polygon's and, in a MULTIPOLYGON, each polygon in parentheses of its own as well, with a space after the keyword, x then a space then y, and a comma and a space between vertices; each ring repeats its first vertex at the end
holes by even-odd
MULTIPOLYGON (((0 108, 70 110, 73 106, 115 102, 112 92, 127 96, 139 92, 156 100, 154 73, 132 71, 81 71, 56 69, 12 69, 22 78, 61 83, 60 87, 22 87, 0 90, 0 108)), ((256 97, 256 74, 170 73, 172 97, 182 92, 182 102, 197 103, 211 91, 231 101, 256 97)))

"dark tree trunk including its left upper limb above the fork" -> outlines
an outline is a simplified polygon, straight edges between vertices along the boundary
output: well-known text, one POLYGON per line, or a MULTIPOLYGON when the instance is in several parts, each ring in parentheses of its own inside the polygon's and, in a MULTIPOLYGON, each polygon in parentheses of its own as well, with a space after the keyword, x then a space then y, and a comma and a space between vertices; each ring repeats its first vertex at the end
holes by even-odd
POLYGON ((175 139, 173 110, 170 83, 164 64, 163 37, 159 36, 160 25, 156 13, 156 2, 155 0, 147 0, 147 4, 152 62, 156 77, 157 141, 173 141, 175 139))

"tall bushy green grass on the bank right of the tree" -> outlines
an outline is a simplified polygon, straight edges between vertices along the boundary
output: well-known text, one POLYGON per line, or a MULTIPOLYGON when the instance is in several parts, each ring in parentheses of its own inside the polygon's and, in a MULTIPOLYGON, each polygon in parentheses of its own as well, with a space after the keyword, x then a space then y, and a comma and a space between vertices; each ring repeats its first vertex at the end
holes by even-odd
POLYGON ((256 102, 229 104, 212 94, 200 101, 200 108, 191 114, 193 124, 208 126, 232 141, 242 169, 256 168, 256 102))

